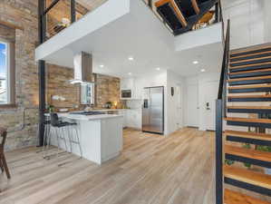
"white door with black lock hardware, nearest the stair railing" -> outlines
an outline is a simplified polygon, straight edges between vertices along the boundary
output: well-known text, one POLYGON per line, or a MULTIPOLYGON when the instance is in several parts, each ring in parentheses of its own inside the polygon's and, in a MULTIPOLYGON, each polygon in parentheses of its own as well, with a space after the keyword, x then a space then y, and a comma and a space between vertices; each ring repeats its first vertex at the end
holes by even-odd
POLYGON ((206 129, 215 131, 216 129, 216 100, 218 98, 218 82, 204 84, 204 118, 206 119, 206 129))

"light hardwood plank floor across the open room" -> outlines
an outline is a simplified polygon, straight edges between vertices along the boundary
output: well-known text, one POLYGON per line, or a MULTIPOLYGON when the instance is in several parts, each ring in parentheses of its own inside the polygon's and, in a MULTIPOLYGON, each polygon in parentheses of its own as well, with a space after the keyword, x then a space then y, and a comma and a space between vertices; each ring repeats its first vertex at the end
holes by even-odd
POLYGON ((69 153, 43 160, 40 151, 7 153, 12 180, 0 174, 1 204, 215 203, 214 132, 125 130, 121 156, 102 166, 69 153))

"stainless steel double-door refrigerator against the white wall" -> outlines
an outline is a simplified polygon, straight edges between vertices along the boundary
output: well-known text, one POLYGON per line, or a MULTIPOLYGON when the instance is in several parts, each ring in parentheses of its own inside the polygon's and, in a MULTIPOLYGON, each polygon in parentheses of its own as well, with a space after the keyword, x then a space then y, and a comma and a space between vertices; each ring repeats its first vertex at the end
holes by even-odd
POLYGON ((164 133, 164 87, 146 87, 143 92, 142 131, 164 133))

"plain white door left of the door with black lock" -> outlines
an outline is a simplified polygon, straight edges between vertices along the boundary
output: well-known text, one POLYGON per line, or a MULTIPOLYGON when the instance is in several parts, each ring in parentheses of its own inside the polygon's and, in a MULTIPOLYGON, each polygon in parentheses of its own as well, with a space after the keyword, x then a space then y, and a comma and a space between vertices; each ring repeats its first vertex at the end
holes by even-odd
POLYGON ((188 126, 198 127, 198 84, 188 85, 188 126))

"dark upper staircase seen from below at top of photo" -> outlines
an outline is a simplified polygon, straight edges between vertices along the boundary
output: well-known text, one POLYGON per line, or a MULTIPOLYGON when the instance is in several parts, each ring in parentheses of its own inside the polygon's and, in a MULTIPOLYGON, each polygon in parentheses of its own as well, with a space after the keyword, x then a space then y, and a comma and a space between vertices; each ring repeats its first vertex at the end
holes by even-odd
POLYGON ((215 12, 210 9, 218 5, 218 2, 218 0, 159 0, 155 7, 173 34, 177 35, 191 30, 203 16, 208 19, 207 13, 212 17, 215 12))

